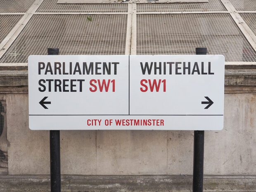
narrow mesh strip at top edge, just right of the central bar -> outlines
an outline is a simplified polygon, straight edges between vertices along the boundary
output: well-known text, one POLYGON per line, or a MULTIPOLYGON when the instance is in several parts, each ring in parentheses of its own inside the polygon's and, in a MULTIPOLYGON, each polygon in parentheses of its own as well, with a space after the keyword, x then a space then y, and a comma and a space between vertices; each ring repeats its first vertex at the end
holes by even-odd
POLYGON ((137 12, 227 11, 220 0, 208 3, 137 4, 137 12))

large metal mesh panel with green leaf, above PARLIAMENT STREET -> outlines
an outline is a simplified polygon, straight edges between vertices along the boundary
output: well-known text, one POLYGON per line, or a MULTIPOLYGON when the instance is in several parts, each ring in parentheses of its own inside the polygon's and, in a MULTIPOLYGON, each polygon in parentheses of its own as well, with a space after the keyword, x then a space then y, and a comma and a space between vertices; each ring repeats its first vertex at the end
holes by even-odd
POLYGON ((0 63, 27 62, 59 47, 61 55, 124 55, 127 15, 34 15, 0 63))

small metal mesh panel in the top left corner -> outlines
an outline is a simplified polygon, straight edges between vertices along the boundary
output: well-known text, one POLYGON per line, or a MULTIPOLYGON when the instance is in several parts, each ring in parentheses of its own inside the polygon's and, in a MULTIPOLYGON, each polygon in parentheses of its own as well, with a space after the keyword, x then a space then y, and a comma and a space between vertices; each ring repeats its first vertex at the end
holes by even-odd
POLYGON ((0 13, 24 13, 35 0, 0 0, 0 13))

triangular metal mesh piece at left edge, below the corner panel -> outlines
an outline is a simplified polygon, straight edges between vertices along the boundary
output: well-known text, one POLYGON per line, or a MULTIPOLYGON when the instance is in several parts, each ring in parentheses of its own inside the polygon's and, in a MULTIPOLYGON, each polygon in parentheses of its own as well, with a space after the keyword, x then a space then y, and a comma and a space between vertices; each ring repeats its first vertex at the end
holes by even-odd
POLYGON ((23 15, 0 15, 0 43, 19 22, 23 15))

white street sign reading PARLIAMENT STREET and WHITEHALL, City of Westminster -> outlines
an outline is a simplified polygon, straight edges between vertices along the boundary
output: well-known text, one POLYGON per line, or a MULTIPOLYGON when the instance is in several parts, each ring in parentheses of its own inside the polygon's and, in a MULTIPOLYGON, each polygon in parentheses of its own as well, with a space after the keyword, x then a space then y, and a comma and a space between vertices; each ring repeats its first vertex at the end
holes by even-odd
POLYGON ((222 55, 31 55, 32 130, 221 130, 222 55))

